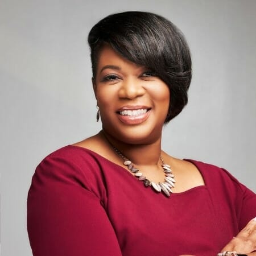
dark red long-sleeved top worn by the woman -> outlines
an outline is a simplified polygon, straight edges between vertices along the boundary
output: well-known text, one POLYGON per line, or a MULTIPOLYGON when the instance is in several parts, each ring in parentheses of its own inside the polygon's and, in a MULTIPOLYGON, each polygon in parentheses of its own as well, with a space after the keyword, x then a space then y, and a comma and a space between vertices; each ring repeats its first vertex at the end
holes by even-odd
POLYGON ((34 256, 216 255, 256 216, 256 195, 224 169, 189 161, 205 185, 166 197, 96 152, 53 152, 28 192, 34 256))

